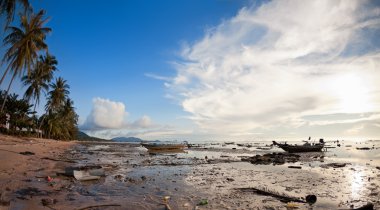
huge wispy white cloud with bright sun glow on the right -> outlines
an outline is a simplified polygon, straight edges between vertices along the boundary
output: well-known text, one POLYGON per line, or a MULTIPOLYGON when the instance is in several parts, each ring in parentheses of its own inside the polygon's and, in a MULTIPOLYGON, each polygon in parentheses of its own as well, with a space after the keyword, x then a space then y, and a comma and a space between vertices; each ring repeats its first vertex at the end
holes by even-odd
POLYGON ((379 112, 380 46, 367 33, 380 34, 380 10, 370 4, 243 8, 183 49, 186 61, 176 63, 166 86, 189 118, 213 133, 289 133, 308 123, 303 116, 379 112), (363 50, 368 44, 372 50, 363 50))

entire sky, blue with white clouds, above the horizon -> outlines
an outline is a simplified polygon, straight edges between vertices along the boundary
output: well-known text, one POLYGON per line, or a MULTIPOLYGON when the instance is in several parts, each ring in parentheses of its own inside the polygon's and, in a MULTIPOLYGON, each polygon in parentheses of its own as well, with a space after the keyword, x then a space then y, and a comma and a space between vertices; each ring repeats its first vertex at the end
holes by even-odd
POLYGON ((380 138, 378 1, 32 5, 51 18, 49 52, 90 135, 380 138))

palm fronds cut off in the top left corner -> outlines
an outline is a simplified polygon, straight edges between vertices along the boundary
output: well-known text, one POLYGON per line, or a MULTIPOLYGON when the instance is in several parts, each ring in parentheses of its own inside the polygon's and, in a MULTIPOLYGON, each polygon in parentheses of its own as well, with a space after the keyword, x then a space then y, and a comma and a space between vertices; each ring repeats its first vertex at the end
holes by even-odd
POLYGON ((24 11, 31 8, 28 0, 0 0, 0 15, 6 16, 5 27, 7 27, 12 22, 17 3, 19 3, 24 8, 24 11))

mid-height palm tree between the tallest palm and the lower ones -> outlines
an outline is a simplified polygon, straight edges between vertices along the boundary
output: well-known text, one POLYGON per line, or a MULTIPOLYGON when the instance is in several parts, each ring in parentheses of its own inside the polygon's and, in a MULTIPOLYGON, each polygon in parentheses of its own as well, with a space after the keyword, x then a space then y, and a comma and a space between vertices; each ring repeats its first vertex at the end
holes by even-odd
POLYGON ((47 93, 49 90, 49 83, 53 77, 54 71, 57 70, 57 64, 58 62, 54 56, 50 54, 46 54, 46 56, 40 55, 31 74, 22 77, 24 86, 28 86, 24 98, 28 101, 30 101, 32 97, 34 98, 34 112, 36 111, 36 106, 40 102, 41 92, 44 91, 47 93))

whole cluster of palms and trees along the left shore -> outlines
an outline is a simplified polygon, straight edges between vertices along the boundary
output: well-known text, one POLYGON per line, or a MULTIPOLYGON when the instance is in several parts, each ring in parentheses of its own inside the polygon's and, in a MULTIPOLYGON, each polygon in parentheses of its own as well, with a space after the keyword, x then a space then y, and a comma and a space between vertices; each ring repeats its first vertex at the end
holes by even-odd
POLYGON ((48 50, 45 11, 34 13, 28 0, 0 0, 0 17, 4 19, 6 47, 1 62, 3 74, 0 85, 10 78, 6 90, 0 90, 1 132, 34 135, 59 140, 75 139, 78 115, 69 97, 67 81, 54 74, 58 61, 48 50), (15 20, 15 13, 19 18, 15 20), (14 26, 16 23, 19 26, 14 26), (23 96, 9 94, 15 79, 26 88, 23 96), (37 116, 41 97, 46 97, 45 113, 37 116))

